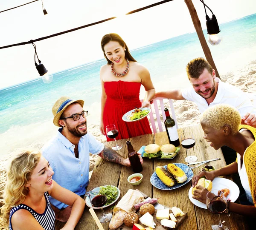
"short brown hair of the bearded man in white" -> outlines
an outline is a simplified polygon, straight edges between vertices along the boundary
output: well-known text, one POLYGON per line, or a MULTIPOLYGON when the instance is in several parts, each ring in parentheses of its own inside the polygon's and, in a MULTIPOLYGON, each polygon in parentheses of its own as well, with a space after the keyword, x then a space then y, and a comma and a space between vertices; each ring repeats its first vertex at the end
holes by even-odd
POLYGON ((202 57, 195 58, 186 65, 186 73, 189 79, 198 79, 204 72, 204 69, 207 69, 207 71, 212 74, 212 66, 202 57))

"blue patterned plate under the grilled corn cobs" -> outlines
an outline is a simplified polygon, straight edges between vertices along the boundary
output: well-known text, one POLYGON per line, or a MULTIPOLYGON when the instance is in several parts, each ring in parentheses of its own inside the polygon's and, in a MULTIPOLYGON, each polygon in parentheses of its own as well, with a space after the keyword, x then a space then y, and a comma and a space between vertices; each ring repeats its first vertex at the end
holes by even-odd
MULTIPOLYGON (((174 163, 174 165, 176 165, 177 167, 181 168, 183 171, 186 169, 186 168, 189 168, 189 166, 187 165, 184 165, 182 163, 174 163)), ((164 168, 167 169, 167 165, 163 166, 164 168)), ((186 183, 188 183, 189 181, 192 180, 192 177, 194 176, 194 173, 192 171, 191 168, 189 168, 189 172, 186 173, 186 176, 187 176, 187 180, 185 182, 183 182, 182 184, 180 183, 177 183, 172 186, 172 187, 168 187, 167 185, 165 185, 160 179, 159 177, 157 176, 157 173, 154 172, 150 178, 150 182, 151 184, 156 187, 156 188, 159 188, 161 190, 172 190, 172 189, 175 189, 175 188, 178 188, 178 187, 181 187, 183 185, 186 185, 186 183)))

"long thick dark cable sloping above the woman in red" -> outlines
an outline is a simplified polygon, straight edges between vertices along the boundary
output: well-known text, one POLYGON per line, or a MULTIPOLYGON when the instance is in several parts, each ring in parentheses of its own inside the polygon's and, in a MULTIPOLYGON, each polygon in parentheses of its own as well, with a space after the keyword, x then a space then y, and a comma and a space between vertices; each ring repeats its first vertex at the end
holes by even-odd
MULTIPOLYGON (((130 11, 130 12, 128 12, 125 15, 134 14, 134 13, 137 13, 139 11, 143 11, 145 9, 148 9, 148 8, 151 8, 151 7, 154 7, 154 6, 158 6, 158 5, 161 5, 163 3, 167 3, 167 2, 171 2, 171 1, 173 1, 173 0, 163 0, 161 2, 154 3, 154 4, 151 4, 151 5, 144 6, 142 8, 130 11)), ((9 47, 17 46, 17 45, 31 44, 31 43, 34 43, 34 42, 38 42, 38 41, 41 41, 41 40, 48 39, 50 37, 56 37, 56 36, 59 36, 59 35, 62 35, 62 34, 67 34, 67 33, 70 33, 70 32, 73 32, 73 31, 76 31, 76 30, 79 30, 79 29, 82 29, 82 28, 86 28, 86 27, 89 27, 89 26, 94 26, 94 25, 97 25, 97 24, 100 24, 100 23, 104 23, 104 22, 107 22, 107 21, 115 19, 115 18, 116 17, 110 17, 110 18, 107 18, 107 19, 104 19, 104 20, 100 20, 100 21, 95 22, 95 23, 90 23, 90 24, 87 24, 87 25, 84 25, 84 26, 79 26, 77 28, 73 28, 73 29, 70 29, 70 30, 67 30, 67 31, 63 31, 63 32, 59 32, 59 33, 56 33, 56 34, 52 34, 52 35, 49 35, 49 36, 46 36, 46 37, 41 37, 41 38, 38 38, 38 39, 35 39, 35 40, 30 40, 28 42, 16 43, 16 44, 12 44, 12 45, 5 45, 5 46, 0 47, 0 49, 9 48, 9 47)))

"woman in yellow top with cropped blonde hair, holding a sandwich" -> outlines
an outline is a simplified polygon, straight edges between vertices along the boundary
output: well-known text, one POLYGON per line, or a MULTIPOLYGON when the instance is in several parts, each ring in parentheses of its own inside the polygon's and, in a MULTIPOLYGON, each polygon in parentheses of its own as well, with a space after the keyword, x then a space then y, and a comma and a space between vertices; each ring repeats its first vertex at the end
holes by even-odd
MULTIPOLYGON (((195 187, 202 176, 212 181, 217 176, 239 173, 250 205, 230 202, 228 209, 240 215, 256 216, 256 128, 240 125, 240 122, 239 112, 230 105, 215 105, 202 114, 204 139, 216 150, 224 145, 236 150, 237 159, 223 168, 198 173, 192 178, 192 186, 195 187)), ((207 192, 206 188, 198 186, 193 198, 205 204, 207 192)))

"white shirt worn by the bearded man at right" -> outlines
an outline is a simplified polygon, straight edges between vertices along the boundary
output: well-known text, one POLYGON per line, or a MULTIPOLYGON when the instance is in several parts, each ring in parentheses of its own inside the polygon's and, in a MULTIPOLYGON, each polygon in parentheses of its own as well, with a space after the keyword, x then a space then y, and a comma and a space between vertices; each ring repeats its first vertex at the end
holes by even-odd
POLYGON ((215 78, 215 81, 218 82, 218 91, 215 99, 209 105, 206 99, 195 92, 192 86, 182 90, 182 97, 195 102, 200 113, 203 113, 207 108, 217 104, 228 104, 235 107, 241 117, 246 113, 256 114, 256 108, 253 106, 253 103, 247 97, 246 93, 234 85, 222 82, 219 78, 215 78))

